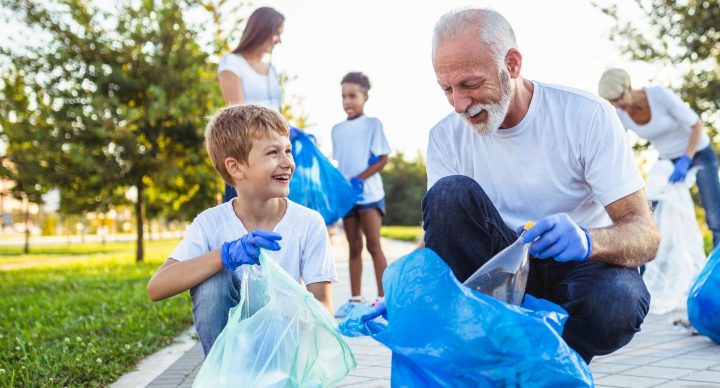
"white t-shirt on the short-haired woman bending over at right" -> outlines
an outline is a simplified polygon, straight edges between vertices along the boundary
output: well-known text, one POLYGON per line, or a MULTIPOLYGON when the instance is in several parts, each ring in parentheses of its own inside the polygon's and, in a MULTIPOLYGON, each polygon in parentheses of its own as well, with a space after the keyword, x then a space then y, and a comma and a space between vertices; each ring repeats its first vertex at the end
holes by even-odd
MULTIPOLYGON (((638 136, 650 140, 652 146, 664 159, 679 158, 685 153, 690 140, 692 126, 700 120, 698 115, 672 90, 662 86, 645 88, 650 107, 650 121, 636 123, 622 109, 617 109, 625 128, 638 136)), ((695 148, 696 151, 710 145, 710 137, 703 131, 695 148)))

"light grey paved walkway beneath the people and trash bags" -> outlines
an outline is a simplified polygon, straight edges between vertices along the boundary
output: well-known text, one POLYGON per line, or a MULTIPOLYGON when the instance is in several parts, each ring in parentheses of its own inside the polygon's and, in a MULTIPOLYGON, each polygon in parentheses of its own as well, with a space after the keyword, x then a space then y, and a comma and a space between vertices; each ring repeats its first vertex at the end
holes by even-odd
MULTIPOLYGON (((410 243, 383 240, 388 261, 407 254, 413 247, 414 244, 410 243)), ((341 279, 333 289, 334 303, 338 307, 349 297, 345 257, 347 244, 344 236, 333 237, 333 248, 341 279)), ((364 257, 363 261, 363 290, 367 297, 374 297, 372 261, 369 257, 364 257)), ((673 321, 683 315, 682 312, 662 316, 650 315, 643 324, 642 331, 628 346, 612 355, 593 360, 590 369, 597 386, 720 388, 720 346, 706 337, 692 335, 687 329, 673 325, 673 321)), ((368 337, 347 340, 355 354, 357 368, 338 386, 390 386, 390 351, 368 337)), ((152 376, 145 383, 148 387, 191 387, 202 361, 202 349, 196 344, 161 373, 152 370, 150 365, 141 369, 145 369, 146 375, 152 376)), ((123 384, 122 379, 118 383, 114 386, 131 386, 123 384)))

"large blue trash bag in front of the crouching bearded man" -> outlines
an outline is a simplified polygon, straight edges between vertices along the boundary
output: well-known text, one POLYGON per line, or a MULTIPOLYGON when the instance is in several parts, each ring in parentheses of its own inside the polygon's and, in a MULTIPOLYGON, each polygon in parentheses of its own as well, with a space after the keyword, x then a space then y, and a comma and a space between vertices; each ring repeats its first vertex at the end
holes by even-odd
POLYGON ((591 387, 592 374, 562 339, 567 313, 526 295, 510 305, 463 286, 432 250, 399 259, 383 275, 387 321, 340 325, 392 350, 393 387, 591 387))

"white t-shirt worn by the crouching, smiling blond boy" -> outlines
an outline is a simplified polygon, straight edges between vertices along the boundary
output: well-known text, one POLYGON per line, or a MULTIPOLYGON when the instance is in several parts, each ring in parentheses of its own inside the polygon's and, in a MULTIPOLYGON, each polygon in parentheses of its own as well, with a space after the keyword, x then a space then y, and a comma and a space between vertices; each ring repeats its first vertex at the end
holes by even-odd
MULTIPOLYGON (((170 258, 192 259, 246 235, 248 231, 232 207, 236 200, 207 209, 195 217, 170 258)), ((280 250, 269 251, 269 256, 298 282, 336 282, 337 271, 322 216, 289 199, 287 204, 285 215, 273 230, 282 236, 278 241, 280 250)))

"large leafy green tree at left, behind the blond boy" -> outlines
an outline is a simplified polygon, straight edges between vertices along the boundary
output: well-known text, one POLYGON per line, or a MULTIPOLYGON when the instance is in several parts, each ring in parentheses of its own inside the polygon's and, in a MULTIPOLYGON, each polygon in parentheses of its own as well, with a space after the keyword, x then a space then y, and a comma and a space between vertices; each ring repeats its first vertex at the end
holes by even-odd
MULTIPOLYGON (((203 155, 205 117, 222 100, 209 54, 185 22, 188 5, 126 1, 104 11, 87 0, 3 4, 46 37, 41 44, 2 51, 11 58, 0 80, 8 101, 0 105, 0 116, 12 118, 0 122, 5 140, 11 147, 41 146, 48 164, 44 179, 60 189, 64 209, 121 203, 124 188, 134 186, 136 256, 142 261, 147 187, 175 187, 170 197, 177 209, 192 211, 212 204, 219 190, 209 161, 197 156, 203 155), (188 180, 216 187, 182 185, 188 180)), ((15 165, 28 160, 42 166, 37 158, 9 151, 15 165)))

